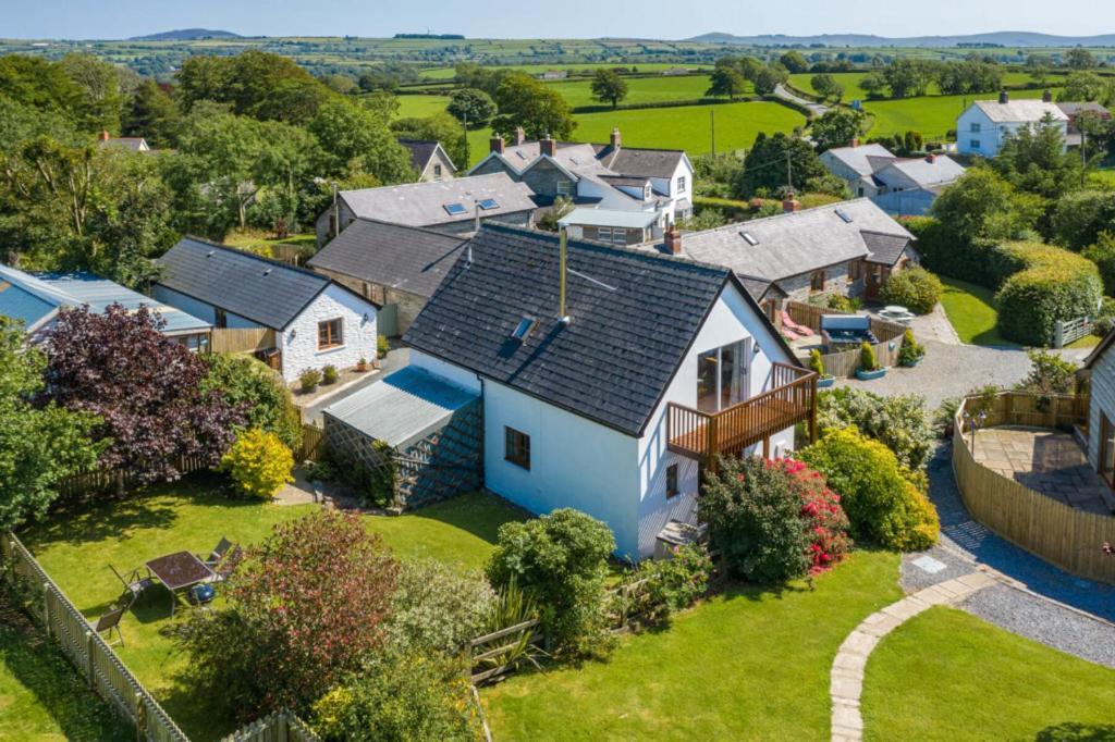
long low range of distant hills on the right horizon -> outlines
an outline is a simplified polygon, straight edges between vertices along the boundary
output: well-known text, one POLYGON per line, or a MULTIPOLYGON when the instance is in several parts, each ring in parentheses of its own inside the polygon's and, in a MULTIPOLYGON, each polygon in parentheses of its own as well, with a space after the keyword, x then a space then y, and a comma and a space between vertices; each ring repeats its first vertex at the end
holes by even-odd
POLYGON ((871 33, 822 33, 820 36, 785 36, 765 33, 762 36, 734 36, 731 33, 705 33, 686 41, 705 43, 738 43, 752 47, 809 46, 823 43, 826 47, 956 47, 960 45, 996 45, 1000 47, 1115 47, 1115 33, 1103 36, 1053 36, 1031 31, 995 31, 967 36, 917 36, 892 38, 871 33))

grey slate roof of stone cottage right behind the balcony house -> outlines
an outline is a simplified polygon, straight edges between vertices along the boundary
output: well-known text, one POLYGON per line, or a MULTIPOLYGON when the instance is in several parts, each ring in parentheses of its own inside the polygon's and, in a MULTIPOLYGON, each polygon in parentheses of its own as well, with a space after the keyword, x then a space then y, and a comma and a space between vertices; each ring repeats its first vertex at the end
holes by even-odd
MULTIPOLYGON (((681 251, 702 263, 739 275, 779 281, 846 261, 867 257, 864 233, 913 240, 905 227, 867 198, 856 198, 792 214, 682 235, 681 251), (841 218, 843 212, 851 222, 841 218), (750 244, 744 234, 754 237, 750 244)), ((661 252, 661 245, 649 247, 661 252)))

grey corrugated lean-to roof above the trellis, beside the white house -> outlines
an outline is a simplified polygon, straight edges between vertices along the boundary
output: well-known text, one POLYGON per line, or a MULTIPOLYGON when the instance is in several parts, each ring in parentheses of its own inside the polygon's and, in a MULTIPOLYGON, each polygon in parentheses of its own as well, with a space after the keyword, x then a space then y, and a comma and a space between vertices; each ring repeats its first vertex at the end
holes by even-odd
POLYGON ((407 367, 330 404, 324 414, 392 448, 405 449, 444 428, 454 412, 477 399, 476 392, 407 367))

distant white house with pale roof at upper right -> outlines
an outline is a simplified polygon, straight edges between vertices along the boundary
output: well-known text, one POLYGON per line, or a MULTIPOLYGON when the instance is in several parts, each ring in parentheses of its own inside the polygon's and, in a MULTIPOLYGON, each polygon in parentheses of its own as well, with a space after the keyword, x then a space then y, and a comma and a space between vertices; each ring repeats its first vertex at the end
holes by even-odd
POLYGON ((1068 116, 1047 92, 1041 100, 1011 100, 1005 90, 999 100, 977 100, 957 119, 957 149, 961 155, 995 157, 1008 137, 1053 119, 1061 137, 1068 136, 1068 116))

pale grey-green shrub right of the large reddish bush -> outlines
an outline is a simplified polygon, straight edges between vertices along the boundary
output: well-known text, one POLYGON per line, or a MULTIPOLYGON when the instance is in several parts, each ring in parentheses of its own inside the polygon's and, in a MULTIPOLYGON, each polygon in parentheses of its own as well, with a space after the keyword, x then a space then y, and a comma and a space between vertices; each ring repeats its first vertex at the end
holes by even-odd
POLYGON ((495 592, 479 574, 440 562, 404 562, 387 622, 389 642, 405 650, 454 654, 485 633, 495 592))

